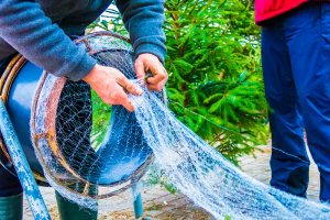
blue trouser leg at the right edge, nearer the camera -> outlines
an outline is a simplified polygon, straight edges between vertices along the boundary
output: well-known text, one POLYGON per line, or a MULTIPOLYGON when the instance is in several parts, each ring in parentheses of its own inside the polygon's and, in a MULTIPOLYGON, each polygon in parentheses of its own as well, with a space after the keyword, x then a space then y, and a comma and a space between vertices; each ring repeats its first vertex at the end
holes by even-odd
MULTIPOLYGON (((307 133, 307 142, 314 161, 320 172, 320 199, 330 200, 330 3, 314 2, 277 19, 277 28, 265 26, 280 32, 286 46, 296 94, 307 133)), ((271 22, 271 23, 272 23, 271 22)), ((267 34, 270 36, 270 33, 267 34)), ((272 44, 274 40, 265 38, 272 44)), ((277 45, 278 46, 278 45, 277 45)), ((276 54, 268 50, 268 63, 276 62, 276 54)), ((284 56, 284 55, 282 55, 284 56)), ((265 63, 264 63, 265 65, 265 63)), ((270 64, 268 64, 270 65, 270 64)), ((277 64, 288 66, 288 64, 277 64)), ((265 68, 265 75, 267 75, 265 68)), ((278 67, 280 68, 280 67, 278 67)), ((270 79, 271 77, 268 77, 270 79)), ((270 87, 276 87, 268 81, 270 87)), ((271 105, 272 106, 272 105, 271 105)), ((278 129, 278 128, 277 128, 278 129)), ((282 139, 286 139, 282 136, 282 139)), ((295 148, 292 145, 290 148, 295 148)), ((285 150, 284 150, 285 151, 285 150)), ((287 151, 285 151, 287 152, 287 151)), ((302 152, 300 152, 302 153, 302 152)), ((304 150, 304 154, 305 150, 304 150)), ((289 168, 283 164, 283 172, 289 168)), ((273 168, 273 167, 272 167, 273 168)))

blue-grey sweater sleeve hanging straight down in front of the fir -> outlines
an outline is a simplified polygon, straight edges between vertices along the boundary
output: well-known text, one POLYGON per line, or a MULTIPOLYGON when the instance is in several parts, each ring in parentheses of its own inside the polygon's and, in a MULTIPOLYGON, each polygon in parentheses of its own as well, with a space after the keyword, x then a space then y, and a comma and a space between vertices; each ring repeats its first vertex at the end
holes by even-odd
POLYGON ((151 53, 164 63, 164 0, 117 0, 136 55, 151 53))

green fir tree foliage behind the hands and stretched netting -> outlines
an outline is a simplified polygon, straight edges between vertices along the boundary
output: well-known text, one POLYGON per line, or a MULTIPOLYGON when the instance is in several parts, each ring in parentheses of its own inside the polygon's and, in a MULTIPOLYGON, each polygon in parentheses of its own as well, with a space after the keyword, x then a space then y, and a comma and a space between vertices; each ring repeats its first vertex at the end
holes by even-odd
MULTIPOLYGON (((268 134, 253 1, 166 0, 165 11, 169 108, 238 164, 268 134)), ((114 10, 96 28, 127 34, 114 10)))

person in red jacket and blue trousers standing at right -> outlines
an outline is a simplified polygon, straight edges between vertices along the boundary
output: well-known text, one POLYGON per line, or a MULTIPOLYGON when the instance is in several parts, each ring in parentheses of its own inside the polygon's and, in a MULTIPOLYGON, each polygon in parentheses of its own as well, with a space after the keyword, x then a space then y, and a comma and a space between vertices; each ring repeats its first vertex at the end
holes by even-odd
POLYGON ((256 0, 265 95, 271 106, 271 185, 306 197, 309 151, 330 201, 330 2, 256 0))

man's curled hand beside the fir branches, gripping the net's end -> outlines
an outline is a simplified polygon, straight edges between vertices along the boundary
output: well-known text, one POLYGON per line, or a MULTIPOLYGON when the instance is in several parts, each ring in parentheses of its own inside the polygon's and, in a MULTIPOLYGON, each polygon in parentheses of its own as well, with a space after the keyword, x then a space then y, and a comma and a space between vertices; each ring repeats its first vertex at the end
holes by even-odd
POLYGON ((147 72, 153 75, 146 79, 148 89, 161 91, 164 88, 167 81, 167 73, 155 55, 140 54, 135 61, 134 68, 139 79, 144 78, 147 72))

